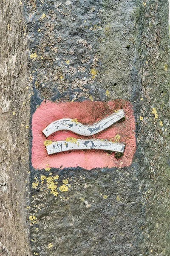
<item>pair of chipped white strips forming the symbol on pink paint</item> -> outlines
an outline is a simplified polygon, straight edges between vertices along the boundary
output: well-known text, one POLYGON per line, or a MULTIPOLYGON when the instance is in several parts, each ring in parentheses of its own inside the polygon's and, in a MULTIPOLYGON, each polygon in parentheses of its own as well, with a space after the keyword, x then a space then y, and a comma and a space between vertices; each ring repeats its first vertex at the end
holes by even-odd
MULTIPOLYGON (((110 116, 105 117, 99 122, 94 123, 93 125, 83 125, 82 123, 72 119, 60 119, 55 122, 52 122, 48 125, 42 132, 46 137, 53 134, 56 131, 72 131, 76 134, 82 136, 92 136, 98 134, 99 132, 105 130, 109 126, 113 125, 115 122, 119 121, 125 117, 124 111, 119 110, 116 113, 111 114, 110 116)), ((47 146, 48 154, 59 153, 69 150, 83 150, 83 149, 96 149, 96 150, 109 150, 116 152, 124 152, 125 144, 113 143, 108 140, 61 140, 57 142, 51 142, 47 146)))

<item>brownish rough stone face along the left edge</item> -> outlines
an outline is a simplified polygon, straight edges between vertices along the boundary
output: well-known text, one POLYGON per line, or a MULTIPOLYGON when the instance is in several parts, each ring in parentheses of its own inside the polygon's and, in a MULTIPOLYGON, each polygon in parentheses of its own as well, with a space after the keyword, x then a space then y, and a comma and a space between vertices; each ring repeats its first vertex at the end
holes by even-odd
POLYGON ((1 256, 31 255, 25 209, 30 118, 25 31, 26 22, 19 1, 0 1, 1 256))

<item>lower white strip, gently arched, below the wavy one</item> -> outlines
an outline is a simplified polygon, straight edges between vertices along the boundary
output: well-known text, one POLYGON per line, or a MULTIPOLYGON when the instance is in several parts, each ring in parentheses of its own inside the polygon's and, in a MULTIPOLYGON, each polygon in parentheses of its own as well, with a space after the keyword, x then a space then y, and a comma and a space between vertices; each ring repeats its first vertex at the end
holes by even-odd
POLYGON ((116 152, 124 152, 125 144, 113 143, 108 140, 76 140, 76 141, 55 141, 46 146, 48 154, 59 153, 68 150, 78 149, 99 149, 116 152))

